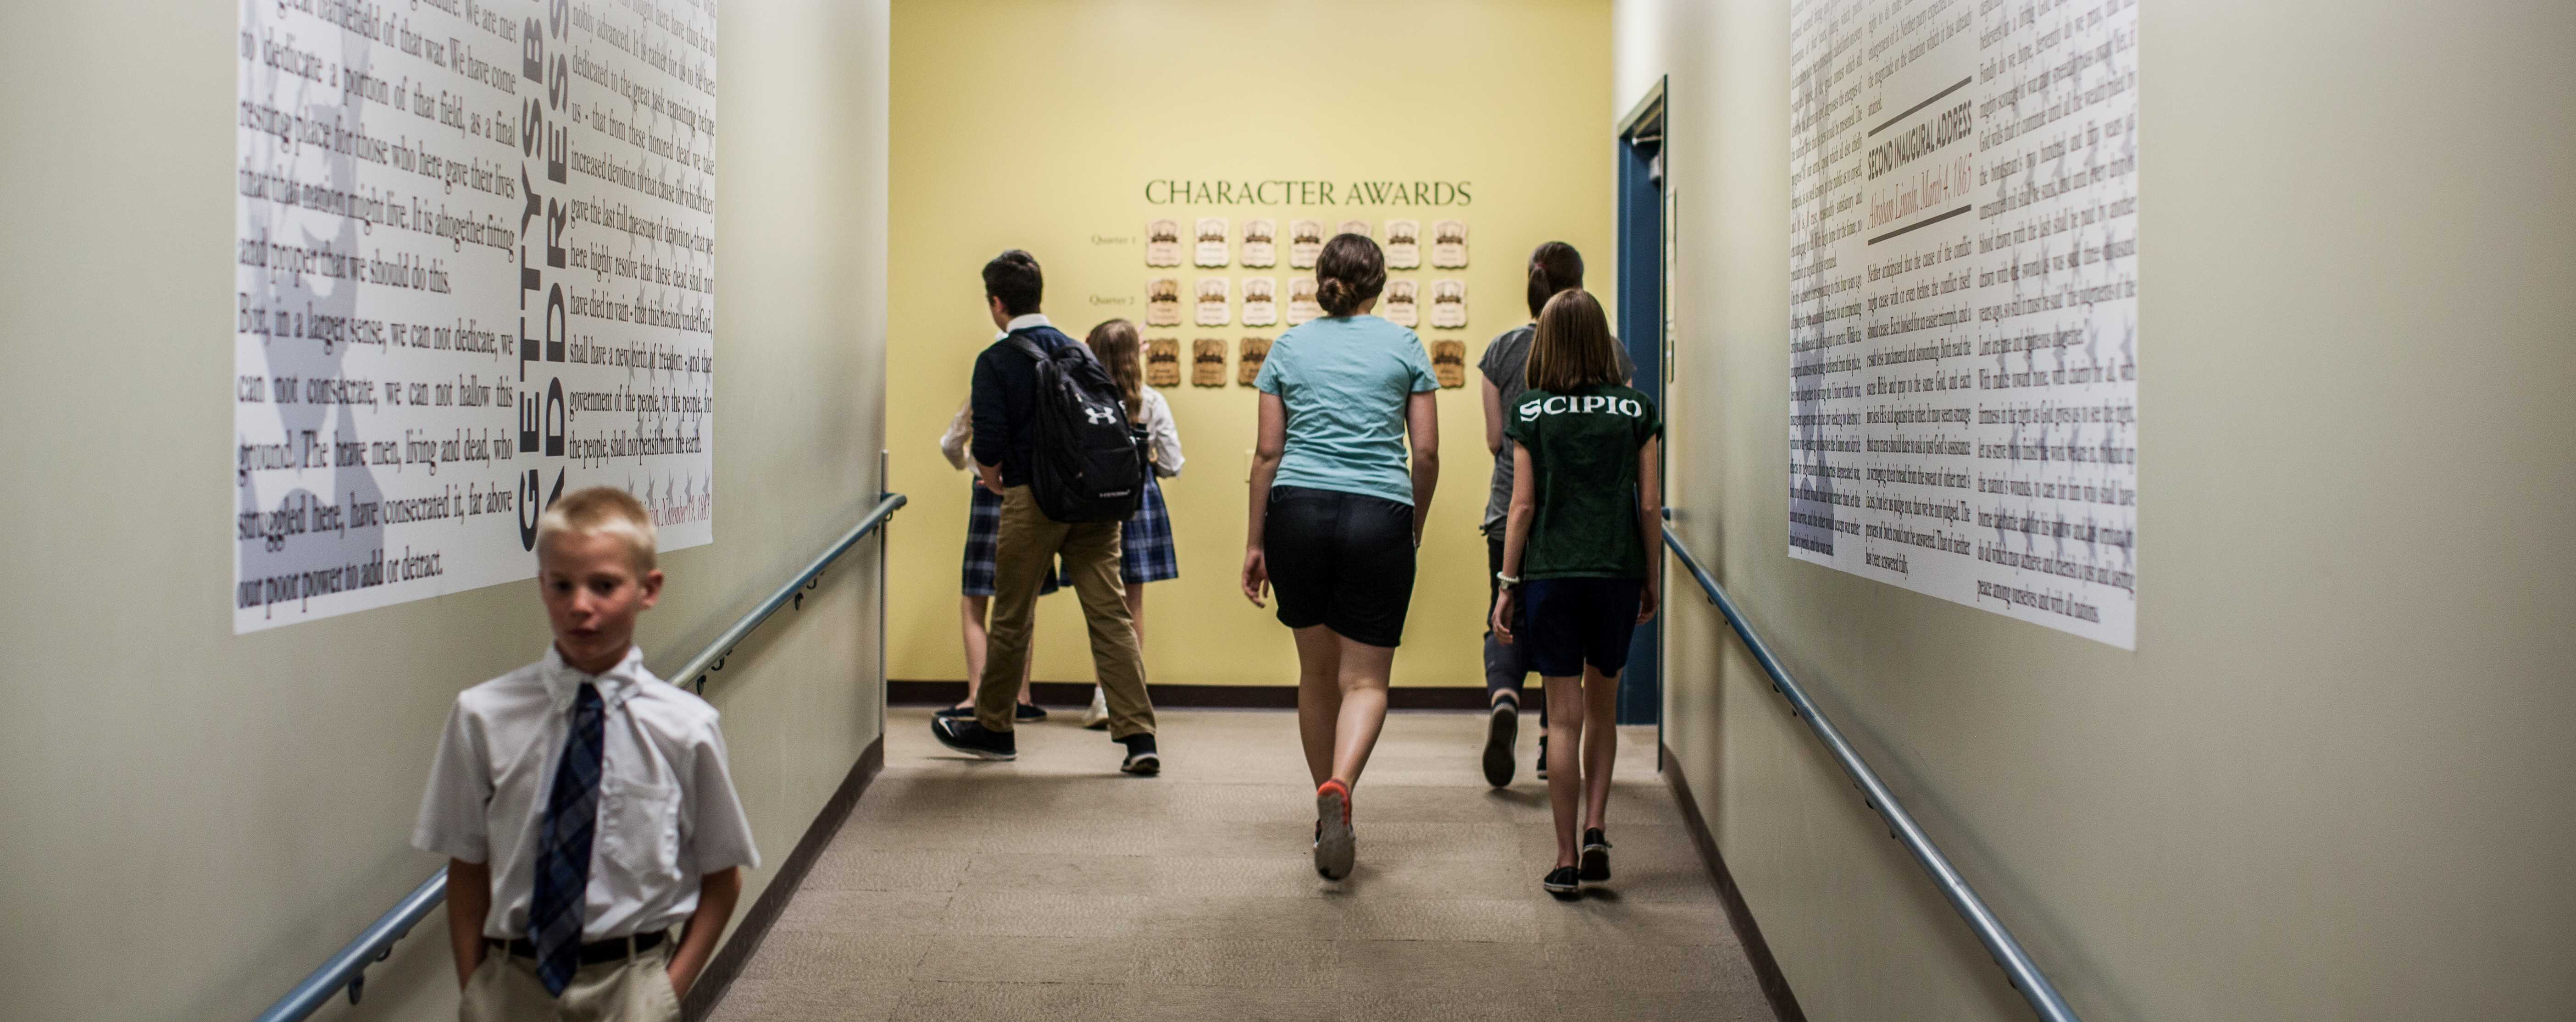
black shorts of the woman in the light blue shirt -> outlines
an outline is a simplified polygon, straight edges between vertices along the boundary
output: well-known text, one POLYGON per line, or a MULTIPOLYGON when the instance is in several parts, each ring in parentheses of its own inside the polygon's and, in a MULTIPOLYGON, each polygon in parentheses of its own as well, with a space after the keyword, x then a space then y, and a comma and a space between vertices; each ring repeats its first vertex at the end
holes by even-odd
POLYGON ((1396 646, 1414 602, 1414 510, 1340 489, 1273 487, 1262 517, 1270 590, 1288 628, 1396 646))

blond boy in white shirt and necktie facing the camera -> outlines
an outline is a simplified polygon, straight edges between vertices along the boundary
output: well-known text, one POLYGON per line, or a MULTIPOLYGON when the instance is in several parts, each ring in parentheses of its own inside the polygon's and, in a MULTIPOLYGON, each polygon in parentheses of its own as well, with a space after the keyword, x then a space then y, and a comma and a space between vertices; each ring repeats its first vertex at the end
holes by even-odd
POLYGON ((448 857, 459 1019, 677 1022, 760 852, 716 708, 634 646, 662 597, 644 505, 546 507, 536 587, 554 646, 456 695, 412 829, 448 857))

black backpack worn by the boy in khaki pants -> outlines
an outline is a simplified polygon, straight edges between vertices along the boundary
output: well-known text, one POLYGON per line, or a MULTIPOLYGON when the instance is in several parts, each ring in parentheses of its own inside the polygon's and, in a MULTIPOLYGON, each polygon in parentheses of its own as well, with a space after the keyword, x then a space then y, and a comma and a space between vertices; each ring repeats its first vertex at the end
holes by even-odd
POLYGON ((1128 422, 1108 366, 1082 345, 1059 345, 1048 355, 1036 340, 1010 340, 1038 363, 1028 463, 1038 510, 1059 523, 1133 517, 1144 499, 1144 430, 1128 422))

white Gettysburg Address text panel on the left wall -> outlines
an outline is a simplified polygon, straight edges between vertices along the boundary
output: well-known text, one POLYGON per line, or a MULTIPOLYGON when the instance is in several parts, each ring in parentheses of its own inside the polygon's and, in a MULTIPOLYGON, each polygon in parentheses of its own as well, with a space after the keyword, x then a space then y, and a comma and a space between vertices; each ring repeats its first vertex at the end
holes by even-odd
POLYGON ((240 28, 234 631, 528 579, 580 487, 711 543, 714 3, 240 28))

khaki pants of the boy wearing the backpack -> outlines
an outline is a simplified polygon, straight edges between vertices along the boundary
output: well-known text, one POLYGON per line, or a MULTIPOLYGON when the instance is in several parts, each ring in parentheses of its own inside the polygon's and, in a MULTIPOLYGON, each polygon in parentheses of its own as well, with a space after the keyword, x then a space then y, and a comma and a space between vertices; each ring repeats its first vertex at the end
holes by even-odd
POLYGON ((1020 674, 1028 669, 1028 638, 1038 620, 1038 587, 1046 584, 1056 556, 1064 556, 1064 574, 1082 597, 1082 620, 1092 628, 1092 669, 1108 692, 1110 736, 1154 734, 1154 703, 1144 695, 1144 654, 1136 649, 1136 623, 1128 620, 1126 582, 1118 577, 1118 525, 1066 525, 1046 517, 1028 487, 1002 492, 984 680, 974 692, 974 718, 987 731, 1010 731, 1020 674))

